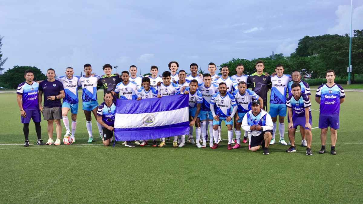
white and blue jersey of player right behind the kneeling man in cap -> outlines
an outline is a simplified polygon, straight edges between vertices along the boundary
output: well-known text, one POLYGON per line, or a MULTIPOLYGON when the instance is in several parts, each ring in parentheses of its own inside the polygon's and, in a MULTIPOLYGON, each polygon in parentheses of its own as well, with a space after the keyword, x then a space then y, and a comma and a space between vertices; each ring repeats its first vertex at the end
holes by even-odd
POLYGON ((250 111, 252 101, 260 98, 256 93, 249 89, 246 89, 246 92, 243 95, 241 95, 238 90, 235 90, 233 91, 233 97, 236 99, 238 113, 247 113, 250 111))

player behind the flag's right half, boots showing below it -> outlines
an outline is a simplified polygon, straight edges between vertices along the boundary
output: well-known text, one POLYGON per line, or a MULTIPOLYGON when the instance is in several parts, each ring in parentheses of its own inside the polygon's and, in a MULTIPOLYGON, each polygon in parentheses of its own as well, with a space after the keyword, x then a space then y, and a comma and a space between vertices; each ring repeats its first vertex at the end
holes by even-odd
MULTIPOLYGON (((163 72, 163 82, 160 84, 160 87, 158 89, 158 98, 161 98, 162 96, 168 96, 168 95, 178 95, 180 94, 179 91, 179 86, 174 83, 171 82, 171 77, 170 77, 170 72, 166 71, 163 72)), ((161 138, 161 142, 159 144, 159 147, 164 147, 165 144, 165 138, 161 138)), ((173 147, 178 147, 178 136, 174 136, 174 140, 173 140, 173 147)))

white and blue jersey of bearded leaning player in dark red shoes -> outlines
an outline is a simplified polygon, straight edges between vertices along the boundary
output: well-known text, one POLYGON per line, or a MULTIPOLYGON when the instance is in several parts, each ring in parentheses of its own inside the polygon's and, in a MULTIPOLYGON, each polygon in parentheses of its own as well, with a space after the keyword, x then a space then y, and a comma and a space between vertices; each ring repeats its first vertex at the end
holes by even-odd
POLYGON ((228 92, 224 97, 219 92, 214 94, 211 99, 211 104, 214 105, 216 115, 221 118, 231 116, 231 107, 237 106, 236 99, 228 92))

